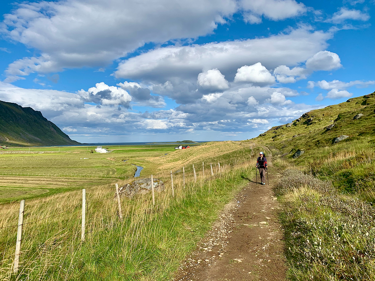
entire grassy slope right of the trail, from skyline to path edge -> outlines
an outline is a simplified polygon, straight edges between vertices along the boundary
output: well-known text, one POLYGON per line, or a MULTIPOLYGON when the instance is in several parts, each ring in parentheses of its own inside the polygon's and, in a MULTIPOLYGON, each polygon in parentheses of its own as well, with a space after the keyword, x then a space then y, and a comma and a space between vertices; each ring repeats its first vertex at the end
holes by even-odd
POLYGON ((286 169, 276 192, 290 280, 375 280, 375 92, 307 112, 255 141, 286 169))

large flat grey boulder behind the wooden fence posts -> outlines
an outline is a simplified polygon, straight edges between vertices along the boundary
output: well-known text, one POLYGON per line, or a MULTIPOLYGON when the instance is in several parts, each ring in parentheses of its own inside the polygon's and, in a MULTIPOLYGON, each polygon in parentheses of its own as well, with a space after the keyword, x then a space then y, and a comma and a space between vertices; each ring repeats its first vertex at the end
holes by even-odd
MULTIPOLYGON (((160 181, 160 179, 153 179, 154 180, 154 191, 161 192, 165 190, 164 182, 160 181)), ((132 198, 135 194, 146 194, 151 191, 151 178, 145 179, 136 179, 135 181, 130 182, 129 184, 125 184, 118 188, 120 196, 126 196, 127 198, 132 198)), ((115 198, 117 194, 115 193, 115 198)))

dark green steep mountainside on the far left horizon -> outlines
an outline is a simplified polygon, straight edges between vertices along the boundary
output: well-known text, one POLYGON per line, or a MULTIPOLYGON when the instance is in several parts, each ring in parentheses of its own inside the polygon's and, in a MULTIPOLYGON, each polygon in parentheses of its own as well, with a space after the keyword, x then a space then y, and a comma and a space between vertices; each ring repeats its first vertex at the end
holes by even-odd
POLYGON ((40 111, 16 103, 0 101, 0 142, 6 145, 75 145, 40 111))

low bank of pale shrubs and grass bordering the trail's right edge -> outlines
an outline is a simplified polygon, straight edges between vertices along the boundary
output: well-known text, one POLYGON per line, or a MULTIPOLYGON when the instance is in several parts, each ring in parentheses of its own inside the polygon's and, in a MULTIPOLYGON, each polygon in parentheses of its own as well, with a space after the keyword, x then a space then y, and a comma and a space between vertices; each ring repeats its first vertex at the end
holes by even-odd
POLYGON ((298 170, 286 170, 276 192, 290 280, 374 280, 371 203, 298 170))

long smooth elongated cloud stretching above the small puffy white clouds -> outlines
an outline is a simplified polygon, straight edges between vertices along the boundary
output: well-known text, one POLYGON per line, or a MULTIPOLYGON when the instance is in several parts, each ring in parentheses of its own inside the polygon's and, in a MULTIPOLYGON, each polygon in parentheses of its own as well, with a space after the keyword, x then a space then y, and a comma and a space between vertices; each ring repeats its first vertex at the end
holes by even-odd
MULTIPOLYGON (((297 65, 324 50, 331 33, 310 32, 306 27, 288 34, 248 40, 207 43, 192 46, 157 48, 122 61, 116 78, 154 81, 163 84, 184 73, 185 79, 196 79, 202 69, 220 69, 228 81, 231 73, 255 63, 267 69, 280 65, 297 65)), ((234 79, 234 74, 232 79, 234 79)))

